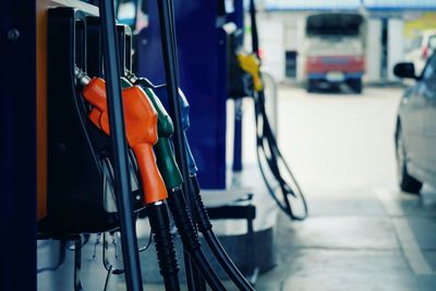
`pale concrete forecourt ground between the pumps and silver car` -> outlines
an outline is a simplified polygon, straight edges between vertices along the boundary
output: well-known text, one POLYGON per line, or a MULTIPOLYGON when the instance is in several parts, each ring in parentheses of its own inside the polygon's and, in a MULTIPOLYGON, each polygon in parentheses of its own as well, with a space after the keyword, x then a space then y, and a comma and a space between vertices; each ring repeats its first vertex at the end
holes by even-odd
POLYGON ((436 290, 436 191, 399 193, 392 147, 401 89, 279 92, 279 137, 311 206, 280 216, 278 266, 257 290, 436 290))

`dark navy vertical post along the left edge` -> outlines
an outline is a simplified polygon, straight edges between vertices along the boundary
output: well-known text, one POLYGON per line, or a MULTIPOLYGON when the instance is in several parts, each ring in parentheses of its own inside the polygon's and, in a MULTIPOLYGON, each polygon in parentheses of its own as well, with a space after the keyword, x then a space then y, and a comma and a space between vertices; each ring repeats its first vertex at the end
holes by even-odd
POLYGON ((36 290, 36 4, 0 1, 0 290, 36 290))

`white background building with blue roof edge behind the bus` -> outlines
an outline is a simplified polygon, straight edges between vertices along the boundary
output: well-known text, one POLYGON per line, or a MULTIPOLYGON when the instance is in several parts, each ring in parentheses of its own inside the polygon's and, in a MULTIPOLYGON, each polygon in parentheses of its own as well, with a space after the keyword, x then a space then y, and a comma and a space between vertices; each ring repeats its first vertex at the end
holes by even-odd
POLYGON ((422 31, 436 28, 436 2, 432 0, 264 0, 263 8, 259 27, 265 70, 279 82, 305 78, 308 15, 346 12, 364 16, 366 83, 397 81, 391 72, 393 65, 404 60, 422 31))

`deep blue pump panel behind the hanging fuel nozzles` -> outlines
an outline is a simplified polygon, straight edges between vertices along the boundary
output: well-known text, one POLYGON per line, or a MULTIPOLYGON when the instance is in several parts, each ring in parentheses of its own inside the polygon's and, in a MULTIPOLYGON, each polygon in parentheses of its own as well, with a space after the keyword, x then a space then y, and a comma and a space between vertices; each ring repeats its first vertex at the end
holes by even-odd
MULTIPOLYGON (((202 187, 226 187, 226 33, 216 27, 209 1, 175 1, 180 86, 191 105, 191 149, 202 187)), ((137 39, 137 75, 165 81, 156 1, 148 1, 148 27, 137 39)))

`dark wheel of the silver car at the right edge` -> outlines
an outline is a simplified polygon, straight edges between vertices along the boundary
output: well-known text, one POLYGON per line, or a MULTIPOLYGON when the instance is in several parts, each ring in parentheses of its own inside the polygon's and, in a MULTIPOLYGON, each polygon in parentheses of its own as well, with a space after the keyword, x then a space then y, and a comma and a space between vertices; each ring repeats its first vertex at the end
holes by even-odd
POLYGON ((415 178, 409 174, 407 167, 407 153, 404 148, 404 143, 401 135, 400 123, 397 125, 396 133, 396 148, 397 148, 397 172, 398 172, 398 183, 401 191, 420 194, 422 182, 417 181, 415 178))

